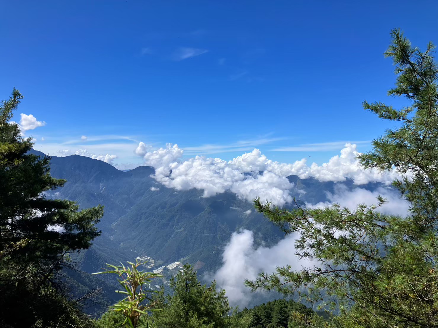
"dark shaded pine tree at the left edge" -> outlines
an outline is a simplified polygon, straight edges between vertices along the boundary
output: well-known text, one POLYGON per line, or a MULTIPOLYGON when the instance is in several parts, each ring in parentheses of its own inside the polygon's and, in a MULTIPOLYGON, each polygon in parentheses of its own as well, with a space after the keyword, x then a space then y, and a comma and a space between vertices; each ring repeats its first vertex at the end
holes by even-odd
POLYGON ((10 122, 22 98, 14 88, 0 105, 0 326, 64 327, 70 318, 80 327, 87 320, 63 297, 55 274, 68 252, 99 236, 103 208, 79 211, 74 202, 51 198, 65 180, 50 176, 50 157, 32 154, 32 138, 10 122))

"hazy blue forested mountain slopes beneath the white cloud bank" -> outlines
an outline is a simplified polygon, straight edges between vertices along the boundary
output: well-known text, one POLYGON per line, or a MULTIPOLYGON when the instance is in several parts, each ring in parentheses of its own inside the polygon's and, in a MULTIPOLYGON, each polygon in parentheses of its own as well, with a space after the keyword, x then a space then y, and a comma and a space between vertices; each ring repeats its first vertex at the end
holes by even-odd
MULTIPOLYGON (((35 150, 33 153, 44 155, 35 150)), ((181 259, 197 263, 202 274, 220 267, 223 248, 235 231, 252 230, 254 244, 266 247, 283 238, 278 228, 254 211, 251 202, 238 199, 231 192, 203 198, 201 190, 166 188, 151 178, 153 167, 119 171, 103 161, 78 155, 53 156, 50 167, 54 177, 64 178, 67 183, 48 197, 74 200, 81 208, 105 206, 99 223, 102 236, 95 239, 90 249, 74 256, 79 269, 85 272, 97 272, 105 263, 133 261, 147 255, 155 263, 169 264, 181 259)), ((301 205, 329 201, 327 193, 334 193, 339 185, 314 178, 288 179, 295 185, 291 194, 300 199, 297 203, 301 205)), ((347 190, 360 187, 370 191, 381 186, 356 186, 351 180, 342 185, 347 190)), ((91 280, 73 273, 71 277, 78 285, 94 286, 96 278, 103 279, 104 290, 114 286, 114 280, 106 275, 93 276, 91 280)))

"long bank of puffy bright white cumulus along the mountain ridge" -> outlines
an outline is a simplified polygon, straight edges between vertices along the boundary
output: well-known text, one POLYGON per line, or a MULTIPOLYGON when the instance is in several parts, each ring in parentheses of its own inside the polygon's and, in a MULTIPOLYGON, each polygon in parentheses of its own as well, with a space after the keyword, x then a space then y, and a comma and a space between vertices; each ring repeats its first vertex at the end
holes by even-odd
POLYGON ((184 151, 177 144, 166 144, 166 148, 147 151, 139 144, 136 153, 145 164, 155 168, 154 178, 168 188, 177 190, 200 189, 204 197, 230 191, 241 199, 251 201, 259 196, 282 206, 292 200, 291 192, 302 194, 286 178, 297 175, 301 179, 314 177, 319 181, 345 181, 353 179, 357 185, 380 181, 389 185, 398 177, 395 172, 381 174, 375 170, 364 171, 355 157, 355 144, 346 143, 340 155, 333 156, 327 163, 307 165, 307 158, 293 164, 269 160, 261 151, 254 149, 231 161, 220 158, 196 156, 182 160, 184 151), (170 173, 171 172, 171 173, 170 173))

